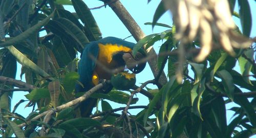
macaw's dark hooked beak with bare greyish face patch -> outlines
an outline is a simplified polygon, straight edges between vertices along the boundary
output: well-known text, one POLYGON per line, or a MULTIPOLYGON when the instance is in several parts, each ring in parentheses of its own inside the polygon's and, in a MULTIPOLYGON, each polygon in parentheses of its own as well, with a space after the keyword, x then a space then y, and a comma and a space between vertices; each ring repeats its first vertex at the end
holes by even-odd
POLYGON ((143 56, 139 52, 136 54, 135 58, 131 53, 123 54, 126 67, 135 74, 140 73, 146 66, 146 62, 139 63, 142 58, 143 56))

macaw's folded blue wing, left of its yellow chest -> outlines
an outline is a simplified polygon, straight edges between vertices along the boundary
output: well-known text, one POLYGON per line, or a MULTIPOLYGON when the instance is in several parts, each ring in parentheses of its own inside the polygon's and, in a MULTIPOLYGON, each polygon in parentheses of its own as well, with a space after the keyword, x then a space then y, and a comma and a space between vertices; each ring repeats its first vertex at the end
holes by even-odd
POLYGON ((86 44, 86 48, 84 48, 78 64, 78 74, 80 75, 79 82, 82 83, 83 87, 77 84, 76 93, 87 91, 93 87, 92 76, 96 63, 92 56, 97 59, 98 53, 99 47, 96 41, 86 44))

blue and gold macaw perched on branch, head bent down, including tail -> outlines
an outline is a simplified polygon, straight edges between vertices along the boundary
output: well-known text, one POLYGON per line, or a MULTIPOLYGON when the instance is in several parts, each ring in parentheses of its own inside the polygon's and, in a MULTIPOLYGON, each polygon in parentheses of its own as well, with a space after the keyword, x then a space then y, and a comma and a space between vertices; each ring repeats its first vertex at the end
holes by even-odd
MULTIPOLYGON (((106 37, 98 41, 92 41, 84 48, 81 59, 78 65, 79 82, 83 85, 76 85, 76 93, 84 92, 91 89, 99 83, 99 80, 110 80, 110 73, 104 68, 98 66, 92 59, 93 56, 98 62, 109 69, 125 66, 133 73, 140 73, 146 63, 134 65, 139 59, 145 57, 145 52, 141 49, 135 57, 132 55, 132 50, 135 43, 128 42, 116 37, 106 37), (89 56, 90 55, 90 56, 89 56)), ((123 68, 124 70, 124 68, 123 68)), ((112 87, 111 87, 112 89, 112 87)), ((104 91, 108 93, 110 90, 104 91)), ((93 107, 96 104, 96 99, 89 98, 82 102, 80 111, 82 117, 89 117, 93 107)))

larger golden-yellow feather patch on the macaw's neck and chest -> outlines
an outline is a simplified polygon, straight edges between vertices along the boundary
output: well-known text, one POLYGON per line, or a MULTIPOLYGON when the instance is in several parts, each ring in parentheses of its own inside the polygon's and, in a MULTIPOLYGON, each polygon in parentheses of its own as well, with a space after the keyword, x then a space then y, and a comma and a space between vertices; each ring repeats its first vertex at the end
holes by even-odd
POLYGON ((102 44, 99 43, 99 55, 98 60, 102 63, 110 63, 112 61, 112 55, 118 52, 132 52, 132 49, 123 47, 123 45, 117 44, 102 44))

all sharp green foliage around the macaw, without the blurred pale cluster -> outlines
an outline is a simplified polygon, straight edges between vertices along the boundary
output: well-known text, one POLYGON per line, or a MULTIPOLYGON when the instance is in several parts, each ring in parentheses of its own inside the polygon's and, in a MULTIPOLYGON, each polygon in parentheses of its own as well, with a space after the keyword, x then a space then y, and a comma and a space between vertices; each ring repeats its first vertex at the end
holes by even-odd
MULTIPOLYGON (((133 98, 138 89, 131 91, 131 96, 118 90, 109 94, 94 93, 91 97, 101 101, 102 110, 98 110, 97 105, 91 118, 80 118, 77 105, 61 109, 59 106, 81 96, 74 94, 75 84, 79 83, 77 53, 86 43, 101 39, 90 9, 82 0, 0 2, 0 135, 3 137, 13 134, 17 137, 118 137, 120 134, 124 137, 130 134, 134 137, 179 137, 181 134, 187 137, 249 137, 256 133, 255 43, 247 49, 234 49, 236 56, 216 49, 202 62, 195 61, 200 40, 186 43, 180 82, 176 74, 181 64, 181 42, 176 39, 175 25, 157 22, 167 11, 160 2, 153 22, 146 25, 167 27, 168 30, 141 39, 133 54, 143 46, 147 49, 163 41, 156 66, 160 71, 168 69, 168 82, 159 85, 156 83, 159 78, 156 78, 152 82, 159 89, 141 91, 150 99, 147 106, 130 106, 140 100, 133 98), (73 5, 76 12, 65 10, 63 5, 73 5), (3 78, 15 79, 16 61, 22 64, 20 76, 26 78, 26 83, 15 83, 19 85, 3 78), (30 102, 26 106, 35 108, 37 105, 37 109, 23 117, 10 110, 11 91, 13 86, 26 88, 28 85, 34 89, 28 89, 30 93, 26 98, 30 102), (128 114, 125 108, 113 109, 106 100, 127 104, 127 108, 144 109, 138 114, 128 114), (227 109, 229 103, 239 106, 227 109), (45 112, 48 110, 53 113, 45 112), (119 110, 123 110, 122 115, 115 113, 119 110), (235 112, 230 122, 227 110, 235 112)), ((235 3, 229 1, 231 12, 235 3)), ((248 37, 252 28, 249 3, 239 0, 238 5, 241 8, 236 16, 240 17, 242 33, 236 31, 248 37)))

